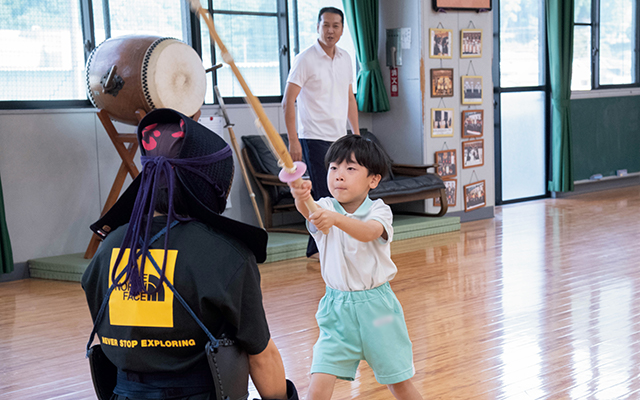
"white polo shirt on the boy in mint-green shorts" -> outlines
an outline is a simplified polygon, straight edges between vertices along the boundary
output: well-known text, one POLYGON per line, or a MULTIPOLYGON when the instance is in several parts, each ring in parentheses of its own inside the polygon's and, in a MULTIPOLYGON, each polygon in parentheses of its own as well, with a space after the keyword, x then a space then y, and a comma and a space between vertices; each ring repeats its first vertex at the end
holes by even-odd
POLYGON ((322 278, 327 286, 342 291, 368 290, 393 279, 398 269, 391 261, 393 213, 388 205, 380 199, 373 201, 367 197, 353 214, 347 213, 331 197, 321 198, 318 205, 349 218, 378 221, 388 236, 387 240, 380 237, 371 242, 361 242, 335 226, 325 235, 309 223, 309 232, 320 253, 322 278))

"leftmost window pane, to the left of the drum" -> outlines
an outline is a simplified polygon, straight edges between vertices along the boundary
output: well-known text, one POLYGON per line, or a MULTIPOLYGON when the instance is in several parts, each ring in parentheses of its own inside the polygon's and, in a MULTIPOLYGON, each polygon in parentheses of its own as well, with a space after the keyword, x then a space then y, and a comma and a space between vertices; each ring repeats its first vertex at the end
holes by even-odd
POLYGON ((0 4, 0 101, 85 100, 79 3, 0 4))

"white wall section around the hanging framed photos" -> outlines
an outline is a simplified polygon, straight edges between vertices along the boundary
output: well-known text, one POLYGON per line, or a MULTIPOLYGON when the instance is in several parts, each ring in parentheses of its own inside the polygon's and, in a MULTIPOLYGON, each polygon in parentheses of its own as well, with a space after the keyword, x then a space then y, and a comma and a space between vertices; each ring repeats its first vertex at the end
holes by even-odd
MULTIPOLYGON (((390 76, 386 67, 386 29, 411 28, 411 49, 403 50, 403 65, 399 70, 399 97, 390 97, 391 110, 372 114, 373 132, 381 139, 385 149, 395 160, 403 163, 432 164, 436 151, 457 149, 458 159, 462 155, 461 114, 465 109, 484 110, 484 165, 462 169, 458 166, 457 202, 448 213, 460 215, 462 220, 493 216, 495 205, 494 137, 493 137, 493 17, 491 12, 475 11, 434 12, 431 0, 380 0, 379 50, 382 76, 389 92, 390 76), (470 24, 470 21, 472 24, 470 24), (440 26, 441 24, 441 26, 440 26), (482 29, 482 57, 460 58, 460 30, 475 27, 482 29), (429 58, 429 28, 444 28, 453 31, 451 59, 429 58), (469 67, 470 61, 473 65, 469 67), (430 97, 431 68, 453 68, 454 96, 441 99, 430 97), (467 73, 467 71, 469 71, 467 73), (475 71, 475 73, 473 72, 475 71), (461 104, 460 76, 481 75, 483 77, 483 100, 481 105, 461 104), (446 138, 431 137, 431 108, 454 109, 454 135, 446 138), (475 172, 475 174, 474 174, 475 172), (463 186, 472 181, 486 183, 487 206, 475 212, 464 212, 463 186)), ((425 202, 427 210, 434 211, 431 200, 425 202)))

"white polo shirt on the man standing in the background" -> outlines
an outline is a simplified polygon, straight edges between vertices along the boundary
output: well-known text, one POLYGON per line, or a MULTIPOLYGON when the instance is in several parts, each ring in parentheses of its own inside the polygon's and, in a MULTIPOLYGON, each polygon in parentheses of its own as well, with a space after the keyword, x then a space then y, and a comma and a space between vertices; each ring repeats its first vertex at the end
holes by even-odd
POLYGON ((287 82, 302 88, 298 94, 298 137, 336 141, 347 133, 349 85, 353 67, 349 53, 338 46, 329 57, 315 44, 293 60, 287 82))

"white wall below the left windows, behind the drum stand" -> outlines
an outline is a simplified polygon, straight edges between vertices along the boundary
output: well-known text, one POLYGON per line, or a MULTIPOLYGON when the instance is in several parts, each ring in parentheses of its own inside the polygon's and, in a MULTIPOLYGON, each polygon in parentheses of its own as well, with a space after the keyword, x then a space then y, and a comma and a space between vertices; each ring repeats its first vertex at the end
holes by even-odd
MULTIPOLYGON (((239 141, 258 133, 248 106, 227 107, 239 141)), ((275 128, 286 132, 280 105, 264 108, 275 128)), ((204 117, 219 113, 217 106, 202 110, 204 117)), ((115 125, 120 133, 135 132, 134 126, 115 125)), ((371 118, 362 114, 360 125, 371 129, 371 118)), ((139 155, 136 163, 140 167, 139 155)), ((0 177, 14 262, 84 253, 89 225, 99 218, 119 167, 93 108, 0 111, 0 177)), ((225 215, 257 225, 237 159, 235 170, 225 215)))

